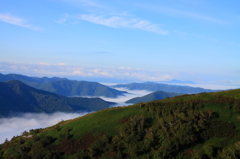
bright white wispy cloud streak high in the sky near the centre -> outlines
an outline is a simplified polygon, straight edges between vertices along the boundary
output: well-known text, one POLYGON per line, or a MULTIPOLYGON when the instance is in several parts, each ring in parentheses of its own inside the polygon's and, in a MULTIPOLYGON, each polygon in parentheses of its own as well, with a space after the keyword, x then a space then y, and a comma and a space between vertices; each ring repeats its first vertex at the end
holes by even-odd
POLYGON ((148 20, 140 20, 128 16, 119 15, 97 15, 97 14, 81 14, 79 19, 89 21, 95 24, 100 24, 112 28, 131 28, 144 31, 154 32, 157 34, 166 35, 168 31, 163 30, 157 24, 153 24, 148 20))

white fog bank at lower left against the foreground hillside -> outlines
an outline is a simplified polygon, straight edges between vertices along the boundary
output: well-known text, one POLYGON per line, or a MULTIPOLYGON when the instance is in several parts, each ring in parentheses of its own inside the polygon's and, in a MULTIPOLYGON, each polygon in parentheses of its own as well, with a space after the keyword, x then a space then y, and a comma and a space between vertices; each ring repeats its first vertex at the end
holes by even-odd
POLYGON ((0 144, 7 138, 22 135, 22 132, 30 129, 45 128, 57 124, 62 120, 69 120, 87 113, 23 113, 16 117, 0 118, 0 144))

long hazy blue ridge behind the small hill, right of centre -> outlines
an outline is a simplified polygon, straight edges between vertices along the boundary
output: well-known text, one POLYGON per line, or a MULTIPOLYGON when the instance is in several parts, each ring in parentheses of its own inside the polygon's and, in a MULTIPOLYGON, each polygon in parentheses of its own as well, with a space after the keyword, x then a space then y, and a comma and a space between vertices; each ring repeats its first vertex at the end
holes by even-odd
POLYGON ((161 84, 161 83, 154 83, 154 82, 117 84, 117 85, 114 85, 113 88, 127 88, 130 90, 164 91, 164 92, 174 92, 174 93, 182 93, 182 94, 197 94, 202 92, 220 91, 220 90, 204 89, 199 87, 178 86, 178 85, 169 85, 169 84, 161 84))

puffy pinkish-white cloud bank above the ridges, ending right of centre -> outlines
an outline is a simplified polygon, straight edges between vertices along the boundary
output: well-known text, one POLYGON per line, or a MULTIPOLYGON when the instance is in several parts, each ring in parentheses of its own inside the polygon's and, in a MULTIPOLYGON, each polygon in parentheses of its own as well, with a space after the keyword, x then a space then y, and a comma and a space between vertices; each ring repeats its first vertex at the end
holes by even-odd
POLYGON ((172 75, 160 71, 147 71, 141 68, 119 67, 119 68, 94 68, 68 66, 59 64, 19 64, 0 62, 2 73, 19 73, 31 76, 64 76, 64 77, 86 77, 86 78, 114 78, 128 79, 131 81, 165 81, 172 79, 172 75))

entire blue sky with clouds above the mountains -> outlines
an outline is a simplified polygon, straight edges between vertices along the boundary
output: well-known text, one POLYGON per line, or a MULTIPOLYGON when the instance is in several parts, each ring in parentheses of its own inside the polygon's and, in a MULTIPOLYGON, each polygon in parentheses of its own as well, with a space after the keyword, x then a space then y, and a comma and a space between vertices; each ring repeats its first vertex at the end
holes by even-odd
POLYGON ((236 0, 0 1, 0 73, 240 84, 236 0))

